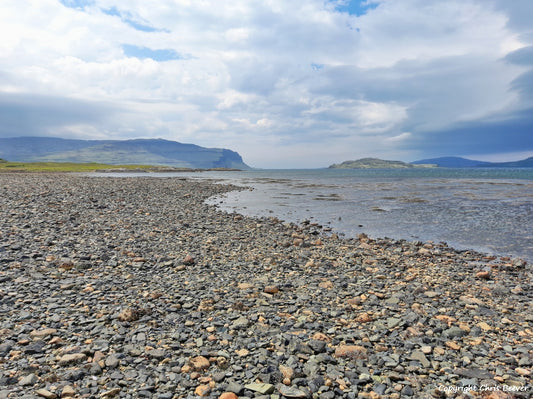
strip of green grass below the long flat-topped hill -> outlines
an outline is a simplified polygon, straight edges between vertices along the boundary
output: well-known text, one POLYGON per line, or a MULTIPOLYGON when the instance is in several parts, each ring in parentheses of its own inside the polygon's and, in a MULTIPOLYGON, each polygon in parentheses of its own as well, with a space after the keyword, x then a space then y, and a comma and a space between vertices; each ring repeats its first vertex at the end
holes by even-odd
POLYGON ((76 163, 76 162, 9 162, 0 159, 1 172, 94 172, 98 170, 146 170, 160 169, 150 165, 108 165, 103 163, 76 163))

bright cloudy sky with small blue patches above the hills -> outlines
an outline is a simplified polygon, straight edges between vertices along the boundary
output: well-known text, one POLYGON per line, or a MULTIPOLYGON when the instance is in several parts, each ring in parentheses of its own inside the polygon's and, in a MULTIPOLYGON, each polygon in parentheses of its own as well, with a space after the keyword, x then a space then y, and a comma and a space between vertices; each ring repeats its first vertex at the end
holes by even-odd
POLYGON ((522 159, 531 21, 531 0, 1 0, 0 137, 522 159))

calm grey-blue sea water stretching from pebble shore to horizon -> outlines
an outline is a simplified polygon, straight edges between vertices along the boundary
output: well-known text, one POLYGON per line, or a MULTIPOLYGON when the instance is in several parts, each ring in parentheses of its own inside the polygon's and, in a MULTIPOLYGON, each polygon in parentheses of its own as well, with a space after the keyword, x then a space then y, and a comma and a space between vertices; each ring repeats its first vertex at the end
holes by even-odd
MULTIPOLYGON (((119 174, 124 176, 124 174, 119 174)), ((146 174, 143 174, 146 175, 146 174)), ((222 211, 308 220, 356 237, 445 242, 533 262, 533 168, 305 169, 154 174, 243 187, 222 211)))

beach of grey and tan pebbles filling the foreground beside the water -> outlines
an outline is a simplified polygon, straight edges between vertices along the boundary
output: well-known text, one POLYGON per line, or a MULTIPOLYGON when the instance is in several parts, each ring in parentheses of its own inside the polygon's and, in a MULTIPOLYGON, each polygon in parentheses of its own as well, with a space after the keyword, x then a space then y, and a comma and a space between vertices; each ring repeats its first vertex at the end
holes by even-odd
POLYGON ((530 264, 205 204, 236 189, 0 174, 0 399, 533 396, 530 264))

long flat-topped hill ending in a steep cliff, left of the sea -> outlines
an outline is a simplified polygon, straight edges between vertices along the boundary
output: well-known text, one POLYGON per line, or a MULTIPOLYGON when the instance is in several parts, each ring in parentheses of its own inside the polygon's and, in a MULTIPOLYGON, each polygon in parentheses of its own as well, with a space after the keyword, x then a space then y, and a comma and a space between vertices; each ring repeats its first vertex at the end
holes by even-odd
POLYGON ((14 162, 99 162, 111 165, 144 164, 192 169, 250 169, 235 151, 163 139, 0 138, 0 157, 14 162))

